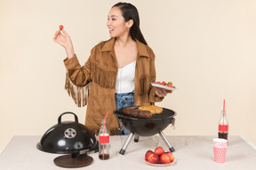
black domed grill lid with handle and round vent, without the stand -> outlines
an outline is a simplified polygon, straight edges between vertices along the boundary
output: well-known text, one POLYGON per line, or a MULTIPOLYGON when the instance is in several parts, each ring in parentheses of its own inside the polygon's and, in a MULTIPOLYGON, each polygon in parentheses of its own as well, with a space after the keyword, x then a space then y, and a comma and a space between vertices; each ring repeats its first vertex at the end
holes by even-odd
POLYGON ((50 153, 70 154, 79 151, 93 151, 98 149, 98 141, 90 130, 78 123, 78 118, 73 112, 60 114, 58 124, 49 128, 36 145, 40 151, 50 153), (64 114, 73 114, 75 121, 62 121, 64 114))

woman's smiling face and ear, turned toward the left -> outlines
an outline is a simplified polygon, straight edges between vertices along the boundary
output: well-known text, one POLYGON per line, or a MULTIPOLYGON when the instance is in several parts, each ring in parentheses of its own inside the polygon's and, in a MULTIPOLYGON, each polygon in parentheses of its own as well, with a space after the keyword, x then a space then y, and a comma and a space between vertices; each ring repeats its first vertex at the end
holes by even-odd
POLYGON ((130 32, 130 27, 132 27, 132 19, 125 22, 122 16, 122 11, 119 7, 111 8, 108 13, 107 27, 109 29, 109 35, 113 37, 128 36, 130 32))

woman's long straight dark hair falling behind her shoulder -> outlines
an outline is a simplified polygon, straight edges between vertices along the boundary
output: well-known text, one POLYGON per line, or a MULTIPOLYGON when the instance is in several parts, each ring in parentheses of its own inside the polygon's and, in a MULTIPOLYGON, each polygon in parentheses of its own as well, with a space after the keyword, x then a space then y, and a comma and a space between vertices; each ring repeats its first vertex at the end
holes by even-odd
POLYGON ((130 35, 132 36, 132 39, 134 41, 135 39, 137 39, 140 42, 143 42, 146 45, 148 45, 140 31, 140 17, 137 8, 133 4, 129 3, 117 3, 114 6, 112 6, 112 8, 115 6, 119 7, 122 11, 122 15, 124 17, 125 22, 129 21, 130 19, 133 20, 133 25, 130 29, 130 35))

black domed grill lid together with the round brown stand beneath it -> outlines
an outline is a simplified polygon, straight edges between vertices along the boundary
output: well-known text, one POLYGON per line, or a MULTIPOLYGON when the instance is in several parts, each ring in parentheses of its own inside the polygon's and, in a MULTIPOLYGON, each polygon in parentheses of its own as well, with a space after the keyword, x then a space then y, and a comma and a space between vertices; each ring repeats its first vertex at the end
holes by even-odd
POLYGON ((55 158, 54 164, 61 167, 82 167, 92 164, 93 158, 88 156, 99 151, 99 143, 90 130, 78 123, 73 112, 60 114, 58 124, 49 128, 36 145, 40 151, 68 154, 55 158), (73 114, 75 121, 61 121, 64 114, 73 114))

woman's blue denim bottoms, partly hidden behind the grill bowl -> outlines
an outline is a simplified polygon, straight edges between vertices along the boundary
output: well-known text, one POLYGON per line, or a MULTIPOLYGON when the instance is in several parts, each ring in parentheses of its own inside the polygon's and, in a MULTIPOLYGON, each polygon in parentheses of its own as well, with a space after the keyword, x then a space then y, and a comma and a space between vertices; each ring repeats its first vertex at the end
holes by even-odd
MULTIPOLYGON (((116 93, 115 98, 116 98, 116 109, 120 109, 122 107, 134 106, 134 92, 116 93)), ((124 135, 130 134, 130 132, 123 127, 120 127, 120 130, 124 135)))

